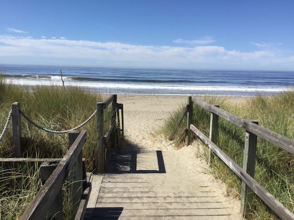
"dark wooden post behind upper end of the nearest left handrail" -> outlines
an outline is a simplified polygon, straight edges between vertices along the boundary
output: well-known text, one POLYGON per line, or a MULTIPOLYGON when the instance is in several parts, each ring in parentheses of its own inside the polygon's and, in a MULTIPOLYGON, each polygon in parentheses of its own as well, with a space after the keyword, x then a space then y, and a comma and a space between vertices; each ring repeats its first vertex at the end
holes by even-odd
MULTIPOLYGON (((68 133, 68 149, 79 136, 80 131, 68 133)), ((79 154, 73 169, 68 173, 68 197, 71 206, 71 219, 74 219, 83 195, 83 153, 79 154)))

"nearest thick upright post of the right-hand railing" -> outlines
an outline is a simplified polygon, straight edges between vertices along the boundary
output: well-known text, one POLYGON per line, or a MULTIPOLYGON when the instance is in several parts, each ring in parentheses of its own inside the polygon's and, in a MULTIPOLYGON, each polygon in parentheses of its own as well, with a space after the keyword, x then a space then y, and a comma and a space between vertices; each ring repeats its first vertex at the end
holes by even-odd
MULTIPOLYGON (((258 121, 251 121, 258 125, 258 121)), ((255 172, 257 136, 248 131, 245 133, 244 159, 243 170, 246 171, 252 178, 255 172)), ((254 192, 242 181, 241 190, 241 214, 248 218, 252 212, 252 197, 254 192)))

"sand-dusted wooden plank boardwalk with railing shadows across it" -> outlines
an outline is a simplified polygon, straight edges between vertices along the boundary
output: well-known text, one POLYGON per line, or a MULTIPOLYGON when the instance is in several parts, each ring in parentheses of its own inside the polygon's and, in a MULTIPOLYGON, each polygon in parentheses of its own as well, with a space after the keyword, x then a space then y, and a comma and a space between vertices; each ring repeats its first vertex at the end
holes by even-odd
POLYGON ((185 163, 183 156, 194 155, 189 149, 185 155, 116 151, 107 172, 93 175, 84 219, 235 220, 233 213, 239 210, 218 192, 218 185, 204 178, 207 174, 200 167, 185 163))

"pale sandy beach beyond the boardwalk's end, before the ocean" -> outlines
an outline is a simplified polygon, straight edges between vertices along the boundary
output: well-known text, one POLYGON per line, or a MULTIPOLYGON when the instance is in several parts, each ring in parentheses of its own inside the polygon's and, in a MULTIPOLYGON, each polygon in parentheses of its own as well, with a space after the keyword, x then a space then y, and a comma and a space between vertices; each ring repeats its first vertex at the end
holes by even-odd
MULTIPOLYGON (((247 97, 226 97, 228 102, 243 104, 247 97)), ((123 104, 124 135, 134 147, 148 150, 173 149, 171 142, 156 136, 157 129, 172 112, 183 107, 188 96, 118 95, 123 104)))

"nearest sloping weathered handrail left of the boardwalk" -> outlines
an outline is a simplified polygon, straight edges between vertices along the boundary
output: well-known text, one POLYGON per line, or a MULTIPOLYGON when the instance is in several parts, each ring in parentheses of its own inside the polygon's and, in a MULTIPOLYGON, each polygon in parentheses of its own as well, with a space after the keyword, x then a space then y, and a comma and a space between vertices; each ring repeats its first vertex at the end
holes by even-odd
POLYGON ((68 172, 73 168, 78 159, 85 142, 86 131, 83 130, 19 220, 37 220, 44 214, 46 215, 49 207, 59 194, 68 172))

